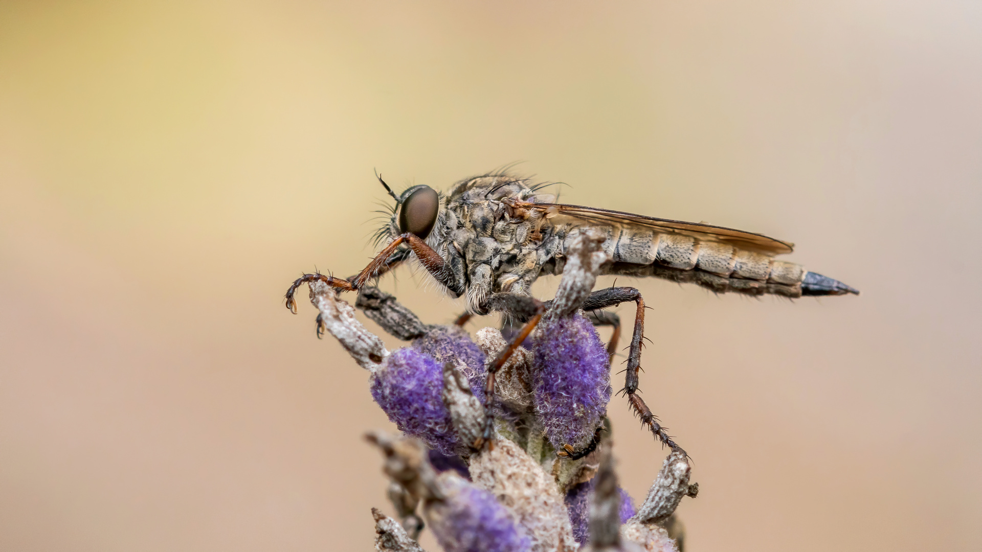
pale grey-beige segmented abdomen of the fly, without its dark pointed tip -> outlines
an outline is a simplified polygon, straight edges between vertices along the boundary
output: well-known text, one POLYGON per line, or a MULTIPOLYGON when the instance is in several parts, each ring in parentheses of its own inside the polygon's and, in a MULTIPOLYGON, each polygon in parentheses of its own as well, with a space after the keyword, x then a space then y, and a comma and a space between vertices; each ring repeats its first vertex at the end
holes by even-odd
POLYGON ((801 296, 804 269, 755 251, 682 234, 611 227, 604 249, 613 262, 606 274, 655 276, 698 284, 714 292, 801 296))

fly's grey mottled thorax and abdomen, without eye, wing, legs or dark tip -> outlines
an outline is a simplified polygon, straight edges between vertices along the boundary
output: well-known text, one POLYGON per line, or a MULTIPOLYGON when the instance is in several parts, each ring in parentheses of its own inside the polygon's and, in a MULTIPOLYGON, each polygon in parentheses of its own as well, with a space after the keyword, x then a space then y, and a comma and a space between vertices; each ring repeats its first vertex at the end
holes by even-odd
MULTIPOLYGON (((527 208, 552 199, 508 175, 466 179, 444 197, 426 242, 447 261, 472 311, 486 312, 491 294, 528 294, 539 276, 561 274, 567 249, 584 228, 607 235, 603 274, 654 276, 717 293, 802 295, 808 273, 801 265, 683 231, 586 222, 547 207, 527 208)), ((399 235, 395 219, 389 233, 399 235)))

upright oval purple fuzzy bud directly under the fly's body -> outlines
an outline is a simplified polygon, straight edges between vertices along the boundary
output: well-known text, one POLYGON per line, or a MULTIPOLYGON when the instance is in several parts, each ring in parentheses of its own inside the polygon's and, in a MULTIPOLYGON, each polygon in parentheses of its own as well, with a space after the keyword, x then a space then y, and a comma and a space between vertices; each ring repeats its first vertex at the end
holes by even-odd
POLYGON ((535 332, 535 412, 556 448, 583 447, 611 399, 607 349, 580 313, 543 320, 535 332))

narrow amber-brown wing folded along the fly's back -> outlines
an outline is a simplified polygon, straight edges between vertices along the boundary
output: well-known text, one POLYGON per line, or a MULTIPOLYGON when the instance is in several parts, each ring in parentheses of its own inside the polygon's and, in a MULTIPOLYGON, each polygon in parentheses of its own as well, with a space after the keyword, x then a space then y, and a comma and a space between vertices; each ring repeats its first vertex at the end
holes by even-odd
POLYGON ((712 224, 701 222, 684 222, 681 220, 655 218, 622 211, 598 209, 596 207, 570 205, 567 203, 522 203, 521 206, 535 208, 546 213, 565 215, 586 223, 634 226, 651 228, 658 232, 685 234, 699 241, 723 242, 736 248, 759 251, 770 255, 790 253, 791 249, 794 248, 794 244, 790 242, 775 240, 763 234, 743 232, 735 228, 713 226, 712 224))

